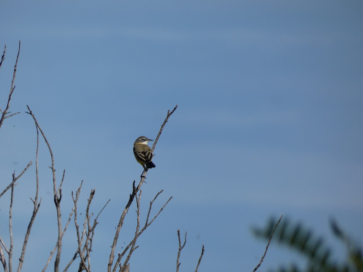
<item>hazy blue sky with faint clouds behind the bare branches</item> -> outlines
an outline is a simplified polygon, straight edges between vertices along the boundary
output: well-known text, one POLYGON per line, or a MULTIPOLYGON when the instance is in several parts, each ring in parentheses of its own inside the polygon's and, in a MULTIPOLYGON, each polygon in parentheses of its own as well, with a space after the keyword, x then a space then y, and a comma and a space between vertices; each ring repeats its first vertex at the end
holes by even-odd
MULTIPOLYGON (((188 231, 181 271, 195 269, 202 244, 199 271, 252 271, 266 242, 251 227, 281 213, 326 237, 336 256, 331 217, 363 243, 361 1, 20 1, 1 7, 2 109, 21 40, 11 101, 11 111, 21 114, 0 130, 1 184, 35 160, 29 105, 52 146, 58 184, 66 169, 63 224, 81 180, 83 206, 96 189, 94 213, 111 199, 96 228, 94 271, 107 267, 115 226, 142 172, 132 144, 140 135, 155 139, 176 104, 156 145, 156 168, 142 187, 144 213, 162 189, 155 212, 173 199, 139 238, 133 271, 175 270, 178 228, 188 231)), ((42 204, 27 271, 41 270, 56 242, 44 142, 39 164, 42 204)), ((35 165, 16 186, 17 252, 34 182, 35 165)), ((4 239, 8 203, 4 195, 4 239)), ((135 209, 117 251, 134 232, 135 209)), ((75 237, 72 225, 61 266, 76 249, 75 237)), ((286 263, 286 254, 273 244, 259 270, 286 263)), ((300 259, 291 254, 291 260, 300 259)))

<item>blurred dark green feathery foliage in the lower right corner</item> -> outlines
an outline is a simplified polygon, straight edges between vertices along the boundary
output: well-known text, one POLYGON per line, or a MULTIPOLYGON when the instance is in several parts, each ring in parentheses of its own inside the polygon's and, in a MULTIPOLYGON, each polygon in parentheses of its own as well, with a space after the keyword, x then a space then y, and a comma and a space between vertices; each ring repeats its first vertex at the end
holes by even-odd
MULTIPOLYGON (((276 221, 270 219, 265 229, 254 228, 257 237, 269 239, 276 221)), ((335 221, 330 222, 333 234, 341 240, 347 250, 347 259, 337 264, 331 258, 331 248, 327 246, 321 237, 313 235, 313 231, 304 227, 301 223, 291 223, 283 220, 277 227, 272 240, 300 252, 307 259, 307 268, 301 269, 294 265, 289 268, 280 268, 278 272, 363 272, 362 248, 341 229, 335 221)))

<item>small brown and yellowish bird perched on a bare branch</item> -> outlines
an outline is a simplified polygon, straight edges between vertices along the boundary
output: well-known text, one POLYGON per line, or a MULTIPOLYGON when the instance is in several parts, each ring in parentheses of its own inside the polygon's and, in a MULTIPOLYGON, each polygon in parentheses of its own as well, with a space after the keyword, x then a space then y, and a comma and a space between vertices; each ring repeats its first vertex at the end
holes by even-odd
POLYGON ((154 141, 154 140, 150 140, 145 136, 140 136, 136 139, 135 143, 134 143, 134 155, 136 158, 136 161, 142 165, 142 167, 144 168, 144 171, 141 174, 141 177, 143 177, 144 172, 146 171, 146 169, 150 169, 150 168, 154 168, 155 164, 154 162, 152 162, 152 150, 151 148, 147 145, 147 143, 149 141, 154 141))

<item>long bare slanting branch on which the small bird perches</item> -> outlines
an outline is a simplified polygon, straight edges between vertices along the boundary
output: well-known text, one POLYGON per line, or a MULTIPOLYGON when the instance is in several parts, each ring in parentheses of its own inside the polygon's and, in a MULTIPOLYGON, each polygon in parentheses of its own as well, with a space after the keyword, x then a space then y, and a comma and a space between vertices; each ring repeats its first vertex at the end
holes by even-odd
MULTIPOLYGON (((166 122, 168 121, 168 118, 170 117, 170 115, 172 115, 172 113, 176 110, 177 107, 178 107, 178 105, 176 105, 172 111, 168 110, 168 114, 167 114, 167 116, 166 116, 166 118, 164 120, 164 123, 162 124, 162 126, 160 128, 158 136, 156 137, 156 139, 154 141, 154 145, 152 146, 152 151, 154 151, 154 149, 155 149, 155 145, 156 145, 156 143, 157 143, 157 141, 158 141, 158 139, 160 137, 160 134, 163 131, 163 128, 164 128, 166 122)), ((146 173, 147 173, 147 169, 144 172, 144 175, 141 177, 141 180, 140 180, 139 185, 137 187, 135 187, 135 181, 132 184, 132 193, 130 194, 129 201, 127 202, 127 204, 125 206, 125 209, 123 210, 123 212, 121 214, 119 223, 117 225, 116 233, 115 233, 115 236, 114 236, 114 240, 113 240, 113 243, 112 243, 112 246, 111 246, 110 260, 109 260, 109 263, 108 263, 108 266, 107 266, 107 271, 108 272, 111 272, 111 267, 112 267, 113 260, 114 260, 114 257, 115 257, 115 248, 116 248, 119 233, 121 231, 121 227, 123 225, 123 220, 125 219, 126 213, 129 210, 130 205, 131 205, 132 201, 134 200, 136 193, 141 189, 141 186, 142 186, 142 184, 144 182, 144 179, 146 178, 146 173)))

